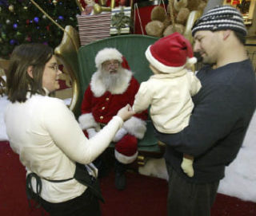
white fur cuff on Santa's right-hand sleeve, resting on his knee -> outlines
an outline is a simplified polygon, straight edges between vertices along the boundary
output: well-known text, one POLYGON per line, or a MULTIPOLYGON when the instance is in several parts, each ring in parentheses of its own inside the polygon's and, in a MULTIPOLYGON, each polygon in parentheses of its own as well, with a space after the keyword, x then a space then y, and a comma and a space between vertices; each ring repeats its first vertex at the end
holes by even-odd
POLYGON ((136 138, 142 139, 146 132, 146 121, 132 116, 130 120, 126 120, 123 124, 123 128, 136 138))

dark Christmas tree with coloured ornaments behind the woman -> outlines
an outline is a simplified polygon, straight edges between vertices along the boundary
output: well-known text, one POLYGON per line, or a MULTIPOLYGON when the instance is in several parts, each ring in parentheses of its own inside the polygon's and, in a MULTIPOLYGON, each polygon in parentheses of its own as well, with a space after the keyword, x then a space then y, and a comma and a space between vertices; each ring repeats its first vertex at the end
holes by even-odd
POLYGON ((80 10, 76 1, 0 0, 0 57, 8 59, 15 45, 45 43, 55 48, 62 41, 63 31, 47 18, 47 14, 59 26, 77 29, 76 15, 80 10))

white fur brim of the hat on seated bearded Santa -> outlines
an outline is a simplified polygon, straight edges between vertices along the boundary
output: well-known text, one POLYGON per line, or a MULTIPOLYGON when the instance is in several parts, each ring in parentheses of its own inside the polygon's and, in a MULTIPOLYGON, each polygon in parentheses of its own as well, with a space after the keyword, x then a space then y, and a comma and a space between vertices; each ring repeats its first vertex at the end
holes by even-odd
POLYGON ((100 50, 95 57, 95 65, 97 69, 102 69, 102 63, 109 60, 118 60, 122 62, 122 54, 118 49, 105 48, 100 50))

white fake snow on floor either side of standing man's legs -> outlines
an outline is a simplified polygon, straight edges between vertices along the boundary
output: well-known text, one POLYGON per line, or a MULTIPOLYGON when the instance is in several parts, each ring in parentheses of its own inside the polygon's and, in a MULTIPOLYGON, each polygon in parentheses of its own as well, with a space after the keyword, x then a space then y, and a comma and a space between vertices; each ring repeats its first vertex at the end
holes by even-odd
MULTIPOLYGON (((168 179, 164 159, 149 159, 138 171, 142 175, 168 179)), ((218 193, 256 202, 256 112, 237 158, 226 167, 225 178, 220 182, 218 193)))

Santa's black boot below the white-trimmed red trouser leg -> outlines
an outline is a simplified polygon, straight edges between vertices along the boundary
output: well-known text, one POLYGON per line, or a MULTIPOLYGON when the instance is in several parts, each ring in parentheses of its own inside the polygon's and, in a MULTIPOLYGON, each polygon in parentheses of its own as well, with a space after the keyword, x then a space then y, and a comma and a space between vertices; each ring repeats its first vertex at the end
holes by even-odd
POLYGON ((126 165, 115 161, 115 179, 114 185, 118 190, 124 190, 126 187, 126 165))

